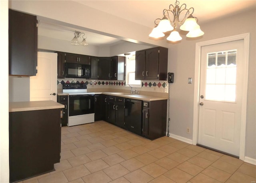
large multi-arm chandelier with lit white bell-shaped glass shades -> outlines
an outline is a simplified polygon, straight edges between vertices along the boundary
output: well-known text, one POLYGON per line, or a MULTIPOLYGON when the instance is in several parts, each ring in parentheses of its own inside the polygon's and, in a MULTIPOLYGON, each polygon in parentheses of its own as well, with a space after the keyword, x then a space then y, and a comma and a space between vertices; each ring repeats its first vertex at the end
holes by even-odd
POLYGON ((181 6, 179 6, 179 4, 180 2, 176 0, 175 7, 170 4, 169 10, 163 10, 164 17, 155 20, 156 26, 148 36, 161 38, 165 36, 164 32, 173 30, 170 36, 167 37, 167 40, 172 42, 180 41, 182 37, 180 37, 180 34, 176 31, 178 24, 181 25, 180 30, 189 31, 186 35, 188 38, 196 38, 204 35, 204 32, 202 32, 200 26, 197 24, 198 18, 192 16, 194 8, 187 9, 186 4, 182 4, 181 6))

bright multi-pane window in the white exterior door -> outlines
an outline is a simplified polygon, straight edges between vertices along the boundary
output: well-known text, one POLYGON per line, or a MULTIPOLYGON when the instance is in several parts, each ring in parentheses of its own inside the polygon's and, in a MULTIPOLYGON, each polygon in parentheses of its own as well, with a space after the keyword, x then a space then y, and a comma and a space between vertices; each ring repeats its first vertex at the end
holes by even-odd
POLYGON ((236 50, 207 54, 205 98, 236 100, 236 50))

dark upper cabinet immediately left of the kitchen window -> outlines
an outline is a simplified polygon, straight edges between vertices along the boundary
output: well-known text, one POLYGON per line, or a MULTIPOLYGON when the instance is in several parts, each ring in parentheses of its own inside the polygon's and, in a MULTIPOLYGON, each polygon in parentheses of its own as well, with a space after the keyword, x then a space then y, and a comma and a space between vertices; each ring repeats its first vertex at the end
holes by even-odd
POLYGON ((110 80, 125 80, 125 57, 111 57, 110 80))

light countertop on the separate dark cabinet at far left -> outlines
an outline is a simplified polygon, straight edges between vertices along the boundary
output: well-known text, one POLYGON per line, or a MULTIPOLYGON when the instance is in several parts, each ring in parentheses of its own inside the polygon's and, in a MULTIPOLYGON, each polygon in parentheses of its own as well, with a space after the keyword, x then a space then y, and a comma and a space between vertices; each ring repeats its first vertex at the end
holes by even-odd
POLYGON ((61 109, 61 108, 64 108, 64 105, 52 100, 9 102, 9 112, 35 111, 35 110, 61 109))

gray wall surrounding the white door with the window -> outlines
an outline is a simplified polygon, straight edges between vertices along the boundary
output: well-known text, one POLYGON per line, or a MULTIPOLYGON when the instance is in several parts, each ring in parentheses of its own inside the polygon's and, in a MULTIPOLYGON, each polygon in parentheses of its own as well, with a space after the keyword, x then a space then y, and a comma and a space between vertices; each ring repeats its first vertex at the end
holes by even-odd
MULTIPOLYGON (((197 42, 213 40, 243 33, 250 33, 250 55, 248 72, 246 149, 245 156, 256 159, 256 12, 251 10, 242 14, 223 17, 206 24, 200 24, 204 36, 198 40, 182 40, 170 45, 168 72, 174 72, 174 83, 171 84, 170 133, 192 139, 194 84, 188 84, 188 78, 194 79, 195 46, 197 42)), ((199 20, 200 21, 200 20, 199 20)), ((184 37, 183 37, 184 38, 184 37)), ((194 82, 194 80, 193 80, 194 82)))

